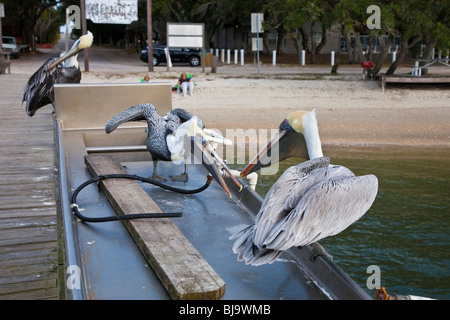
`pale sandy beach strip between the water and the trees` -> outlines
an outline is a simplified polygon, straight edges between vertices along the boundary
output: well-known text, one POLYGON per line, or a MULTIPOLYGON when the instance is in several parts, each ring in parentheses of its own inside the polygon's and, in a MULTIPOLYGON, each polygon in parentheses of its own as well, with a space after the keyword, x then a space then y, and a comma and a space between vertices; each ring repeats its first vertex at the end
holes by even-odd
MULTIPOLYGON (((274 129, 290 112, 315 108, 324 144, 450 146, 448 89, 388 88, 382 93, 377 82, 361 81, 359 75, 298 74, 283 79, 264 74, 264 68, 259 77, 241 75, 242 70, 233 75, 238 67, 225 68, 227 73, 193 72, 194 95, 174 93, 173 107, 193 112, 222 133, 274 129)), ((151 79, 175 85, 178 74, 157 71, 151 79)), ((83 82, 133 82, 137 77, 89 73, 83 82)))

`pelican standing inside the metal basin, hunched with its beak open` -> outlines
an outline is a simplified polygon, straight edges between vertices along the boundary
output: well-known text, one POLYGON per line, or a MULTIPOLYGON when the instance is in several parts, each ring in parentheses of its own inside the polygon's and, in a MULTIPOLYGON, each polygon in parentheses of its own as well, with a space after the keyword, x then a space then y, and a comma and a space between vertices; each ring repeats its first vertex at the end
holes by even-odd
MULTIPOLYGON (((122 111, 112 117, 105 126, 106 133, 111 133, 122 123, 127 121, 146 120, 148 124, 147 150, 153 159, 153 176, 154 180, 166 180, 163 176, 157 174, 158 160, 176 161, 185 156, 184 149, 179 150, 179 146, 183 145, 183 141, 176 141, 177 137, 192 137, 192 145, 194 155, 201 155, 202 164, 219 182, 224 190, 230 194, 216 162, 231 176, 231 172, 222 159, 215 153, 209 143, 204 139, 203 129, 205 125, 203 121, 184 109, 173 109, 167 116, 162 117, 156 112, 156 108, 149 103, 143 103, 122 111), (180 131, 182 133, 180 133, 180 131), (200 137, 196 135, 200 133, 200 137)), ((187 164, 185 163, 185 171, 179 176, 172 176, 174 180, 187 180, 187 164)), ((241 184, 236 178, 233 181, 240 187, 241 184)))

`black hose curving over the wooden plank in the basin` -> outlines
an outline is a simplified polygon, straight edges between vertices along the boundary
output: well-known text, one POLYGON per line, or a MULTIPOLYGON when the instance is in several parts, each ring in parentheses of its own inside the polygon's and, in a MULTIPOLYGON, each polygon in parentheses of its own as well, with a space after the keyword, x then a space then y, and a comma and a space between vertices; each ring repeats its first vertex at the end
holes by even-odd
POLYGON ((91 217, 86 217, 84 215, 82 215, 80 213, 80 211, 78 210, 78 204, 77 204, 77 196, 78 193, 83 190, 85 187, 87 187, 88 185, 90 185, 91 183, 94 182, 100 182, 102 180, 106 180, 106 179, 130 179, 130 180, 139 180, 145 183, 150 183, 153 184, 155 186, 173 191, 173 192, 177 192, 177 193, 182 193, 182 194, 194 194, 194 193, 199 193, 202 192, 203 190, 205 190, 206 188, 209 187, 209 185, 211 184, 211 181, 213 179, 213 177, 211 175, 208 175, 207 177, 207 181, 206 183, 198 188, 198 189, 194 189, 194 190, 186 190, 186 189, 180 189, 180 188, 175 188, 175 187, 171 187, 168 186, 166 184, 160 183, 158 181, 149 179, 149 178, 144 178, 144 177, 140 177, 137 175, 132 175, 132 174, 108 174, 108 175, 99 175, 96 176, 92 179, 89 179, 85 182, 83 182, 72 194, 72 211, 75 214, 75 216, 80 219, 81 221, 84 222, 107 222, 107 221, 118 221, 118 220, 131 220, 131 219, 143 219, 143 218, 174 218, 174 217, 181 217, 181 212, 175 212, 175 213, 170 213, 170 212, 166 212, 166 213, 135 213, 135 214, 127 214, 127 215, 123 215, 123 216, 111 216, 111 217, 96 217, 96 218, 91 218, 91 217))

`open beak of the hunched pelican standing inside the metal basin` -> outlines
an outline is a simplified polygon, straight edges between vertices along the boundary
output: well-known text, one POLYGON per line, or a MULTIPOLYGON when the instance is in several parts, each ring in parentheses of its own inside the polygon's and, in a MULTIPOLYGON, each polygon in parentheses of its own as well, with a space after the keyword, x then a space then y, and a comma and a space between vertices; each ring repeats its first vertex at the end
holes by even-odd
POLYGON ((225 180, 220 173, 219 168, 216 165, 216 162, 219 163, 220 166, 228 173, 228 175, 233 179, 234 183, 236 183, 240 190, 242 190, 242 185, 239 181, 231 174, 230 169, 223 162, 223 160, 217 155, 211 145, 201 137, 191 137, 191 141, 193 142, 194 147, 194 155, 196 158, 201 158, 202 165, 208 170, 208 172, 214 177, 214 179, 220 184, 220 186, 225 190, 225 192, 231 196, 230 190, 225 183, 225 180))

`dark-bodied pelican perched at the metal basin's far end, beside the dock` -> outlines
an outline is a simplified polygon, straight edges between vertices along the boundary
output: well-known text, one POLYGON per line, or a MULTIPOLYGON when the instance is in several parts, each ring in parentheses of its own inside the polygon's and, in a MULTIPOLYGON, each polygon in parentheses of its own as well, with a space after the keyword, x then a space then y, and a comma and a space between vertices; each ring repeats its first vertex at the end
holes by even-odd
POLYGON ((92 44, 91 32, 81 36, 72 48, 61 57, 48 59, 28 80, 23 91, 22 103, 27 102, 27 114, 32 117, 36 110, 54 102, 53 85, 55 83, 79 83, 81 71, 78 66, 78 54, 92 44))

